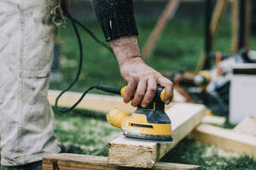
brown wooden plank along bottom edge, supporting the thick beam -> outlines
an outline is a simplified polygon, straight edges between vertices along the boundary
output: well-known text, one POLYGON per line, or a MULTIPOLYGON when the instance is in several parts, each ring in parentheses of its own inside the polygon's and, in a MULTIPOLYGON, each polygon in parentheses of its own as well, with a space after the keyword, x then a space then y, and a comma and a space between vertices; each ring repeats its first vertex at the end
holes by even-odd
MULTIPOLYGON (((104 170, 128 170, 131 167, 115 167, 108 165, 108 157, 104 156, 86 156, 78 154, 51 154, 44 156, 43 158, 43 169, 53 170, 53 162, 58 165, 60 170, 92 170, 92 169, 104 169, 104 170)), ((137 168, 132 168, 137 169, 137 168)), ((154 170, 189 170, 189 169, 201 169, 200 166, 157 162, 152 168, 154 170)))

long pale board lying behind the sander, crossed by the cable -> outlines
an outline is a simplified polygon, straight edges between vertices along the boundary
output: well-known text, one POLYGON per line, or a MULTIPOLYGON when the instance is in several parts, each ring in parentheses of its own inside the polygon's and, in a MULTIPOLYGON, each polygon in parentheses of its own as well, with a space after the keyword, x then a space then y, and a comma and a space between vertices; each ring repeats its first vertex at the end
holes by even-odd
MULTIPOLYGON (((55 105, 55 99, 60 93, 61 91, 58 90, 48 91, 48 100, 50 105, 55 105)), ((176 90, 174 90, 174 94, 175 102, 185 101, 183 96, 179 94, 176 90)), ((80 98, 81 95, 81 93, 77 92, 67 92, 61 96, 61 99, 59 100, 59 106, 70 107, 80 98)), ((118 108, 119 110, 128 113, 136 110, 136 108, 132 107, 131 104, 125 104, 123 99, 119 96, 110 96, 102 94, 87 94, 76 108, 87 109, 92 111, 101 111, 103 113, 107 113, 108 111, 111 111, 114 108, 118 108)))

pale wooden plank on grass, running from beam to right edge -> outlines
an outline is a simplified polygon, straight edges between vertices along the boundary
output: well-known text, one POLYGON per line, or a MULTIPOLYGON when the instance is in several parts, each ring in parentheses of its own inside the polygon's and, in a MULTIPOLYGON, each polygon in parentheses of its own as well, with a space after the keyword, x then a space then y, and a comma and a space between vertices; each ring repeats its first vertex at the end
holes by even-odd
POLYGON ((203 144, 256 158, 256 137, 207 124, 196 127, 190 136, 203 144))

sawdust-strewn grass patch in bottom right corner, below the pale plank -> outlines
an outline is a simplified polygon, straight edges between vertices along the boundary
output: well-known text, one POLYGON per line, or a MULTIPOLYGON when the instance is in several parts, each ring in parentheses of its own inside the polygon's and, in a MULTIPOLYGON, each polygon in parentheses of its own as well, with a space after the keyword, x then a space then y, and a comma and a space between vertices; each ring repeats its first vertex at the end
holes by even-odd
POLYGON ((183 139, 161 161, 201 165, 205 169, 253 170, 256 161, 248 156, 220 150, 212 145, 196 143, 183 139))

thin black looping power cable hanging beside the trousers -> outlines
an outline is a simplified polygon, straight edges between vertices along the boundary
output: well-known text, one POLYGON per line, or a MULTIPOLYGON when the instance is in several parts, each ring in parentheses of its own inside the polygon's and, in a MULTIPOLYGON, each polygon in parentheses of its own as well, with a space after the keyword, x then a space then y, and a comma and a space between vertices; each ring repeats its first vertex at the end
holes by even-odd
MULTIPOLYGON (((81 37, 80 37, 80 34, 79 34, 79 29, 78 29, 78 27, 76 26, 76 23, 77 23, 79 26, 81 26, 81 27, 84 29, 84 31, 87 31, 87 32, 90 34, 90 36, 91 36, 94 40, 96 40, 96 42, 102 44, 103 47, 108 48, 108 50, 109 50, 112 54, 113 54, 113 51, 112 51, 111 48, 108 47, 107 44, 105 44, 104 42, 100 41, 100 40, 92 33, 92 31, 90 31, 86 26, 84 26, 81 22, 79 22, 79 20, 75 20, 75 19, 72 17, 72 15, 69 14, 69 12, 68 12, 67 10, 63 9, 63 11, 64 11, 64 13, 67 15, 67 18, 71 21, 71 23, 72 23, 72 25, 73 25, 73 29, 74 29, 75 34, 76 34, 76 37, 77 37, 78 42, 79 42, 79 69, 78 69, 77 75, 76 75, 74 81, 71 82, 67 88, 65 88, 64 90, 62 90, 61 93, 58 95, 58 97, 55 99, 55 109, 56 109, 57 111, 61 112, 61 113, 66 113, 66 112, 68 112, 68 111, 72 111, 77 105, 79 105, 79 103, 81 102, 81 100, 84 99, 84 96, 85 96, 86 94, 88 94, 88 92, 90 92, 90 90, 92 90, 92 89, 94 89, 94 88, 104 90, 104 89, 106 88, 106 87, 102 86, 101 84, 96 84, 96 85, 90 86, 90 88, 87 88, 87 89, 84 91, 84 93, 82 94, 82 96, 79 98, 79 100, 78 100, 73 106, 71 106, 70 108, 63 110, 63 109, 60 109, 59 106, 58 106, 58 101, 59 101, 59 99, 61 98, 61 95, 62 95, 62 94, 65 94, 70 88, 73 87, 73 85, 74 85, 76 82, 78 82, 79 76, 80 76, 80 73, 81 73, 81 70, 82 70, 82 63, 83 63, 83 45, 82 45, 81 37)), ((104 91, 106 91, 106 90, 104 90, 104 91)), ((113 89, 113 92, 118 93, 118 92, 119 92, 119 91, 118 91, 118 88, 113 89)))

